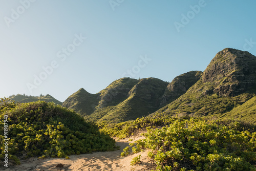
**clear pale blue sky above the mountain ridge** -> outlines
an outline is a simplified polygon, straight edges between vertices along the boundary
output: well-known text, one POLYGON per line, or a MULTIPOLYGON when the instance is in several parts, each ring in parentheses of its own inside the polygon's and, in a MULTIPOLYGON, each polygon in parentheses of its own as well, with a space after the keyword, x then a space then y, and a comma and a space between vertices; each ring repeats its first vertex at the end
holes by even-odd
POLYGON ((170 82, 204 71, 224 48, 256 55, 255 7, 256 1, 1 0, 0 97, 50 94, 64 101, 123 76, 170 82))

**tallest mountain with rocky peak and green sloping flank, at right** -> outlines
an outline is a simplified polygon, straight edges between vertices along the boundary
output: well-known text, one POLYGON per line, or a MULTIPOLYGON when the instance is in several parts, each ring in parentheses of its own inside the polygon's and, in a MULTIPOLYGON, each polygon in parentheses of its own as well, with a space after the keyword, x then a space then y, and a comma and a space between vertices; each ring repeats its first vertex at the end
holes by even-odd
POLYGON ((220 116, 254 97, 255 89, 256 57, 226 48, 216 54, 185 94, 154 114, 220 116))

